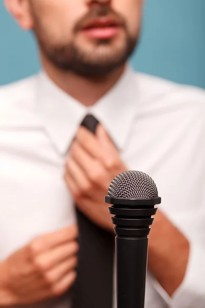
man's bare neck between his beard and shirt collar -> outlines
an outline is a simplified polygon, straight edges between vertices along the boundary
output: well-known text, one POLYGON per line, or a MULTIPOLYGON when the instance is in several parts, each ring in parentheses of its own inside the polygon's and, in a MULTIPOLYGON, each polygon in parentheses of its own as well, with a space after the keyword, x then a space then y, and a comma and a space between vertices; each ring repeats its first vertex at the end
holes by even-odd
POLYGON ((119 80, 126 66, 121 66, 106 76, 88 78, 56 68, 43 55, 42 63, 49 78, 60 89, 85 106, 92 106, 103 97, 119 80))

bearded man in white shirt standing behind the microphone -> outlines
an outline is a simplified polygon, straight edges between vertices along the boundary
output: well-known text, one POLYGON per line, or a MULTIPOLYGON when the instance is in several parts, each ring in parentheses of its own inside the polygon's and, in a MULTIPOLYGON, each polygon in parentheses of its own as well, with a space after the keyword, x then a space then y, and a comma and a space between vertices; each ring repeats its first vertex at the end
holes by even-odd
POLYGON ((162 197, 145 306, 204 308, 204 91, 128 66, 142 0, 5 3, 35 33, 43 71, 0 90, 0 306, 72 307, 74 203, 113 234, 104 196, 136 169, 162 197))

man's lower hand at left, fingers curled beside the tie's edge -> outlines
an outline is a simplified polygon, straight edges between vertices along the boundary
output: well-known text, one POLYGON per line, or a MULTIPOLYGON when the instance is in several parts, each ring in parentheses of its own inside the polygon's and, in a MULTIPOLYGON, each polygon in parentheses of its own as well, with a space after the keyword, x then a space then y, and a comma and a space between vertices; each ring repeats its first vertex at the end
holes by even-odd
POLYGON ((76 278, 76 225, 40 236, 0 264, 0 306, 31 305, 63 294, 76 278))

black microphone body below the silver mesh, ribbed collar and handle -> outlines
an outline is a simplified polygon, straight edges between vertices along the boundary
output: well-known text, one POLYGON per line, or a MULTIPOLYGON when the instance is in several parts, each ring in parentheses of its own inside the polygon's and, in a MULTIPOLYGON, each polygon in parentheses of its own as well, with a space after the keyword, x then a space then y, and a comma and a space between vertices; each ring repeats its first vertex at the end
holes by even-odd
POLYGON ((114 215, 117 308, 144 308, 148 261, 148 235, 156 214, 155 199, 105 197, 114 215))

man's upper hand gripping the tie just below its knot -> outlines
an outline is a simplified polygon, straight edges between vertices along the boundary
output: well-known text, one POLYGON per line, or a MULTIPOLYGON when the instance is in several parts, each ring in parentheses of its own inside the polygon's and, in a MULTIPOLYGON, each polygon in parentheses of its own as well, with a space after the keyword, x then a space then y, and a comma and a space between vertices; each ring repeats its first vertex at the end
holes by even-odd
POLYGON ((79 128, 67 161, 65 180, 78 208, 112 232, 113 224, 104 199, 111 181, 124 171, 126 166, 101 125, 96 135, 85 127, 79 128))

